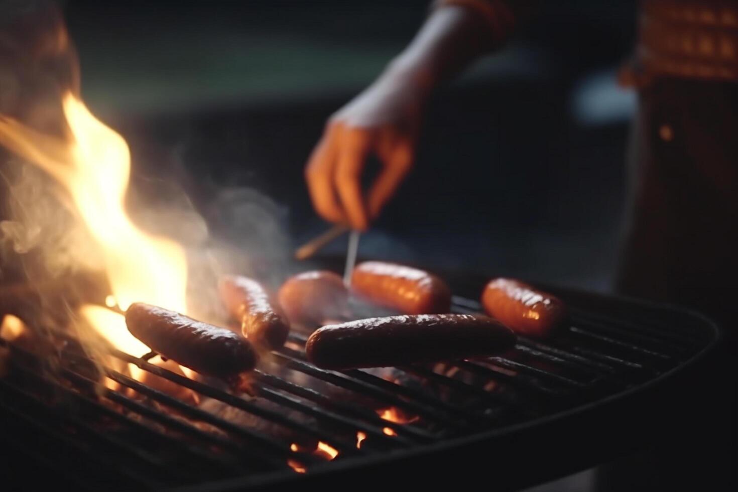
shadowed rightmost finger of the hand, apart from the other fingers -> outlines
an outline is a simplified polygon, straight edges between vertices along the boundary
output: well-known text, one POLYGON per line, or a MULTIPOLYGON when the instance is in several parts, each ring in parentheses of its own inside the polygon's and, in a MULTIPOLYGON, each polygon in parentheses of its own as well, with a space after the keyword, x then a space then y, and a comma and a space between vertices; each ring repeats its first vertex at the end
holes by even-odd
POLYGON ((368 210, 372 220, 379 216, 384 205, 395 194, 402 180, 413 167, 414 149, 412 143, 403 139, 390 148, 383 149, 380 159, 384 164, 382 171, 372 184, 368 194, 368 210))

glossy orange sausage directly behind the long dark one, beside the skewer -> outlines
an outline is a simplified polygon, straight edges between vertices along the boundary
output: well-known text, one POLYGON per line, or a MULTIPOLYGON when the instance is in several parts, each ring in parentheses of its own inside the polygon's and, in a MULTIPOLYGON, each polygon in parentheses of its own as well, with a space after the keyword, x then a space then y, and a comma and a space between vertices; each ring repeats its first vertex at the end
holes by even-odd
POLYGON ((351 290, 405 314, 448 313, 451 308, 451 290, 443 280, 394 263, 359 263, 351 274, 351 290))

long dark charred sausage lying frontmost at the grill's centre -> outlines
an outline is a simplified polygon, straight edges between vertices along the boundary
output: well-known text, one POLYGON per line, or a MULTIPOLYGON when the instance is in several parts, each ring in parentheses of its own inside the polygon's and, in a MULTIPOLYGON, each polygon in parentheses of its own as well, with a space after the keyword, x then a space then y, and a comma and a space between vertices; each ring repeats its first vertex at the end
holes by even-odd
POLYGON ((327 325, 305 350, 317 367, 356 369, 491 356, 514 343, 509 328, 486 316, 420 314, 327 325))

